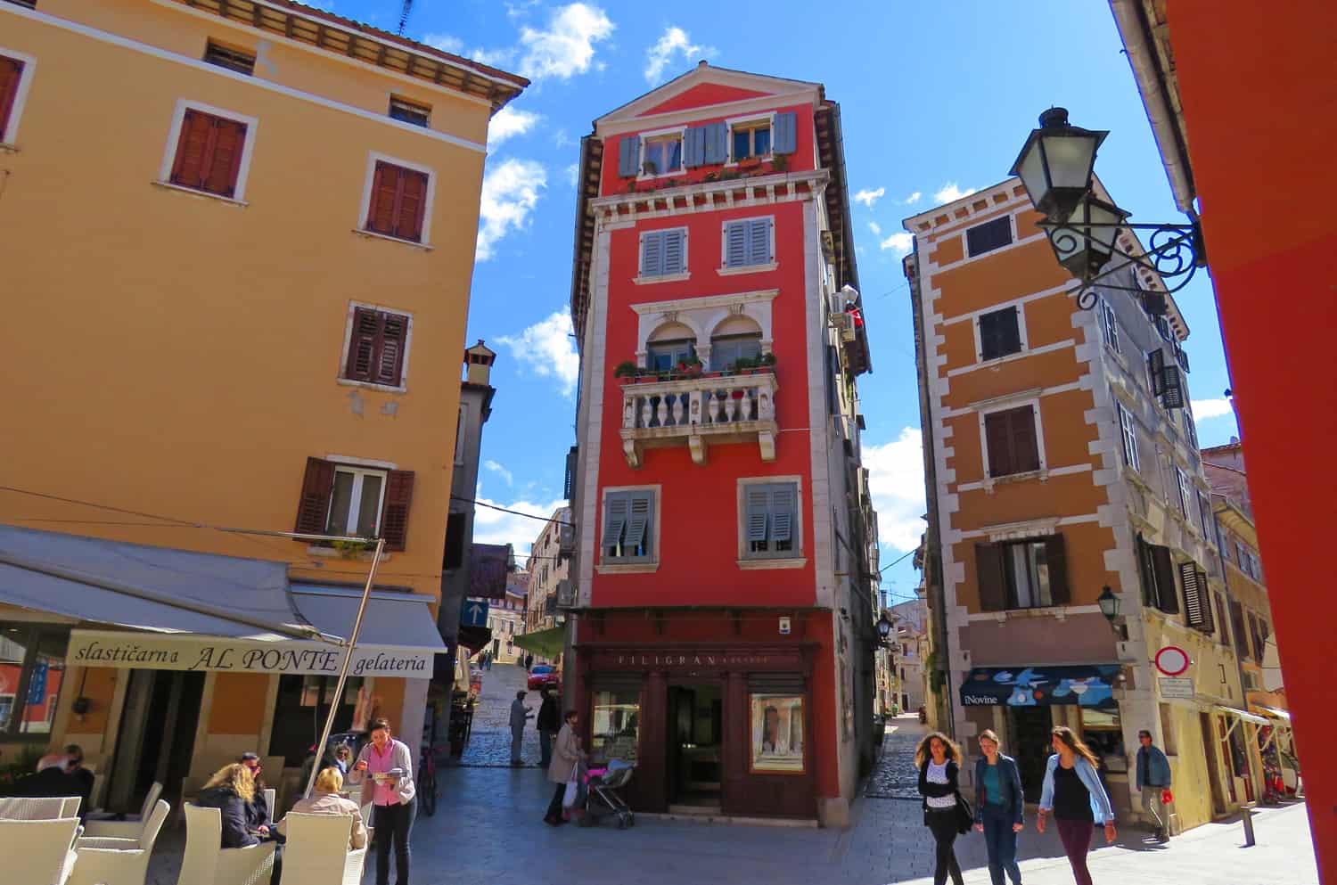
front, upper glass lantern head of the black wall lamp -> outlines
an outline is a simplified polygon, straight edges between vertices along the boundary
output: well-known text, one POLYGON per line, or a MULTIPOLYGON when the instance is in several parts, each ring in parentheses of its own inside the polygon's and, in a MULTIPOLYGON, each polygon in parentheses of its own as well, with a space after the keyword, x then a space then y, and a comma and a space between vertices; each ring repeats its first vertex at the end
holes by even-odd
POLYGON ((1066 219, 1091 190, 1095 152, 1107 135, 1070 126, 1067 108, 1051 107, 1040 115, 1040 128, 1031 130, 1008 174, 1021 178, 1031 202, 1046 218, 1066 219))

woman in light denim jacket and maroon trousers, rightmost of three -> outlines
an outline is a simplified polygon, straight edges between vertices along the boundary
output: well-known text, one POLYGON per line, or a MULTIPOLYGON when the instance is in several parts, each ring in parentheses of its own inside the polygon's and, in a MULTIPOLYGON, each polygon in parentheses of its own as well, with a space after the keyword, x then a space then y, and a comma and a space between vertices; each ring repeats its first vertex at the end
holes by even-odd
POLYGON ((1044 818, 1051 811, 1059 828, 1059 840, 1072 866, 1076 885, 1091 885, 1091 870, 1086 856, 1091 850, 1091 833, 1096 824, 1104 824, 1104 841, 1118 837, 1114 829, 1114 809, 1100 786, 1095 754, 1082 743, 1076 733, 1066 725, 1054 726, 1054 755, 1044 769, 1044 787, 1040 790, 1040 813, 1035 829, 1044 832, 1044 818))

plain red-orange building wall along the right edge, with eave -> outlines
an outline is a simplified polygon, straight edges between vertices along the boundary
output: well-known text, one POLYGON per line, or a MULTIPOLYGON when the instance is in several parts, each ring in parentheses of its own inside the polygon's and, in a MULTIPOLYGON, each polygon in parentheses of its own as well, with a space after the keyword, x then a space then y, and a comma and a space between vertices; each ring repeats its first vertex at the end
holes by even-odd
POLYGON ((1332 631, 1313 616, 1310 591, 1337 496, 1337 217, 1322 205, 1337 188, 1337 5, 1110 5, 1175 203, 1201 211, 1318 872, 1332 882, 1332 631))

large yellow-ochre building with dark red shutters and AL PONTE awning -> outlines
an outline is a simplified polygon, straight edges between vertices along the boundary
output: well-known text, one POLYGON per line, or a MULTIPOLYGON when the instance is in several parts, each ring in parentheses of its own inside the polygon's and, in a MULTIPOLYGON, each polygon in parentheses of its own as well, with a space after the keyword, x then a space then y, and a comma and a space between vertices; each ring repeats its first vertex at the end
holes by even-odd
POLYGON ((317 631, 348 636, 369 555, 198 524, 386 539, 338 725, 417 746, 488 123, 527 80, 285 0, 25 5, 0 3, 4 762, 78 742, 108 807, 245 750, 295 781, 336 701, 317 631))

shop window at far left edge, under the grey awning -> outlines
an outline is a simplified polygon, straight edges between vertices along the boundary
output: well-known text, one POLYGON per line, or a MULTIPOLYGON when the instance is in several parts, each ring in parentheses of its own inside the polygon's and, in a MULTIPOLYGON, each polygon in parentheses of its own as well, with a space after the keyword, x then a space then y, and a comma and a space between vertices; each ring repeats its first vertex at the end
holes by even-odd
POLYGON ((51 734, 70 631, 0 624, 0 739, 51 734))

